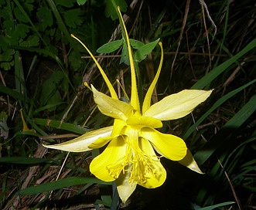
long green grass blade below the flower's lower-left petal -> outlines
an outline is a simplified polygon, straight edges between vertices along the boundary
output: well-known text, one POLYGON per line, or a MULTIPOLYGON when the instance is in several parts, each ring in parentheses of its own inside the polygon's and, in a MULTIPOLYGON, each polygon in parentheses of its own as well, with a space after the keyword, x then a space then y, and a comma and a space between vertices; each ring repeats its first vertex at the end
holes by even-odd
POLYGON ((101 181, 93 177, 85 177, 85 178, 70 177, 70 178, 63 178, 58 181, 48 182, 46 184, 36 185, 30 188, 23 189, 17 192, 17 195, 35 195, 45 191, 53 191, 61 188, 68 188, 74 185, 86 185, 86 184, 112 185, 111 182, 101 181))

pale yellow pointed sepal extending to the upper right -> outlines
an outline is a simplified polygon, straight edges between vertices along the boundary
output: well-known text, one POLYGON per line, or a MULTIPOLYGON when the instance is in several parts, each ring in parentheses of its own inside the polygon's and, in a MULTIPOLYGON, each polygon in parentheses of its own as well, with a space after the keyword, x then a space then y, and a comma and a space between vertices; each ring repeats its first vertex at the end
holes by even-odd
POLYGON ((212 90, 183 90, 153 104, 143 116, 159 120, 175 120, 191 113, 197 105, 207 100, 212 90))

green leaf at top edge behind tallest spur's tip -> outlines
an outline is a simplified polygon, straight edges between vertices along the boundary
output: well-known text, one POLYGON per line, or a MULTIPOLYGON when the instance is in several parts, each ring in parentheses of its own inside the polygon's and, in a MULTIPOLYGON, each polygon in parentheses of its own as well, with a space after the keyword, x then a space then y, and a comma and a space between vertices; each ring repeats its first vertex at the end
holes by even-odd
POLYGON ((118 6, 121 8, 121 12, 126 12, 128 5, 126 4, 125 0, 108 0, 105 8, 106 17, 111 17, 112 20, 118 19, 118 6))

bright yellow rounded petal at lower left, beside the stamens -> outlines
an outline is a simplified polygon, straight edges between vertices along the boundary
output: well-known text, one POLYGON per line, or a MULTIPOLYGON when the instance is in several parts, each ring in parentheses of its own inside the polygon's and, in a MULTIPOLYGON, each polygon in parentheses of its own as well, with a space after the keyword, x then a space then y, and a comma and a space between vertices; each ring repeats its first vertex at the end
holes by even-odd
POLYGON ((122 137, 112 139, 106 149, 91 161, 90 172, 103 181, 117 179, 126 165, 126 147, 122 137))

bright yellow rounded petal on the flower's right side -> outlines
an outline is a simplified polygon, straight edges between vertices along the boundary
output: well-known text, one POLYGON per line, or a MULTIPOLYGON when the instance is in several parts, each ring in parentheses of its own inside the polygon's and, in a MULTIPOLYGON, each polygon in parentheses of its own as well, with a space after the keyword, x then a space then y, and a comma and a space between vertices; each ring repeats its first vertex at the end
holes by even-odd
POLYGON ((172 161, 180 161, 186 155, 186 144, 179 137, 171 134, 162 134, 149 127, 143 127, 139 136, 150 141, 159 154, 164 155, 172 161))

